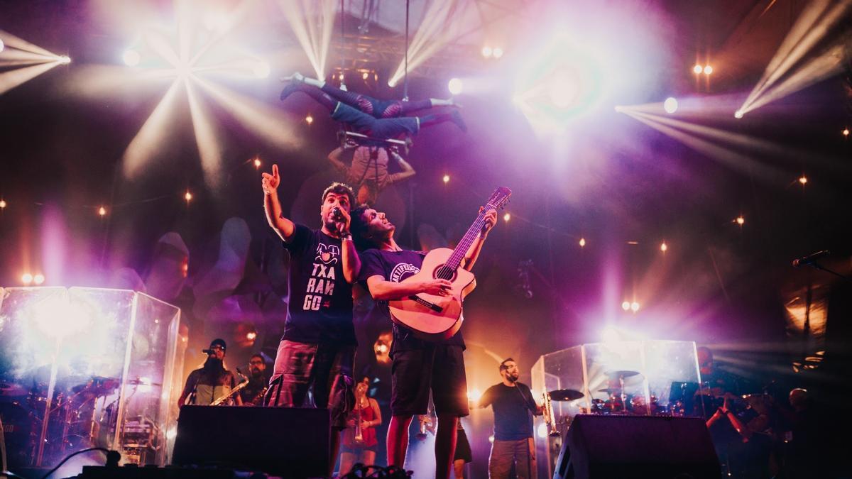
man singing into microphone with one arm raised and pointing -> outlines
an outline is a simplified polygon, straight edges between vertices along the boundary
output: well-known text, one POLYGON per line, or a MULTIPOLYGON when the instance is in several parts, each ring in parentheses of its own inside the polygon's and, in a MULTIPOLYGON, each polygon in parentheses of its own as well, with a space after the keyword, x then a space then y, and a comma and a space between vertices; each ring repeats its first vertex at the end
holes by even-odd
MULTIPOLYGON (((360 261, 349 234, 352 189, 332 183, 322 193, 320 229, 285 218, 278 198, 278 165, 263 173, 263 207, 269 226, 290 251, 290 301, 284 336, 275 357, 266 403, 278 407, 328 407, 331 412, 331 470, 352 404, 355 329, 352 283, 360 261), (308 398, 313 404, 304 404, 308 398)), ((329 476, 331 476, 329 470, 329 476)))

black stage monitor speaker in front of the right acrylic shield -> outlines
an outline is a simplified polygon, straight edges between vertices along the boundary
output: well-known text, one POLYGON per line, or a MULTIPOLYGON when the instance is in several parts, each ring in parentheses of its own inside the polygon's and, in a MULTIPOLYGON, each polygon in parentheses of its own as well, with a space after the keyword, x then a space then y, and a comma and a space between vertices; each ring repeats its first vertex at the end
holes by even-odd
POLYGON ((579 414, 565 433, 553 479, 720 476, 701 418, 579 414))

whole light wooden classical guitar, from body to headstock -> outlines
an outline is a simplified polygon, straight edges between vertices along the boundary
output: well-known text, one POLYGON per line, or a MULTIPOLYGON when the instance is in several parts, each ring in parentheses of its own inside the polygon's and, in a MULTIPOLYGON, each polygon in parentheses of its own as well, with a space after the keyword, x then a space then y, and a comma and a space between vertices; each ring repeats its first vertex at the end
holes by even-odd
POLYGON ((436 296, 418 293, 410 297, 388 302, 391 319, 406 326, 418 338, 432 341, 451 338, 462 327, 462 301, 476 283, 473 273, 460 268, 464 255, 470 245, 479 236, 485 224, 485 215, 489 210, 499 210, 509 201, 512 191, 509 188, 497 188, 492 193, 482 211, 476 216, 467 233, 458 241, 456 248, 436 248, 423 258, 423 266, 417 274, 409 276, 403 283, 428 281, 441 278, 452 283, 450 295, 436 296))

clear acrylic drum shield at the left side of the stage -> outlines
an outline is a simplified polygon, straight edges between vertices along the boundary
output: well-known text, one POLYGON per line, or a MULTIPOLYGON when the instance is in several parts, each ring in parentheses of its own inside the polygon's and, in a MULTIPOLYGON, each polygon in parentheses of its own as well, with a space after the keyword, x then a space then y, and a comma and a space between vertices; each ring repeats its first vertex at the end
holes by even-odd
POLYGON ((85 447, 165 465, 180 309, 127 290, 0 289, 0 415, 9 462, 56 465, 85 447), (135 422, 134 422, 135 421, 135 422), (143 437, 144 436, 144 437, 143 437))

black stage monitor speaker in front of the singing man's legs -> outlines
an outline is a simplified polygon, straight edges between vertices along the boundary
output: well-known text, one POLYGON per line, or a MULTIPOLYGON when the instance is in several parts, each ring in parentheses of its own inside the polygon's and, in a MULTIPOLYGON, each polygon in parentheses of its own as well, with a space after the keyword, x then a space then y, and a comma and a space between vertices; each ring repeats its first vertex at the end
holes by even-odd
POLYGON ((184 406, 174 465, 222 465, 283 477, 328 475, 327 409, 184 406))

